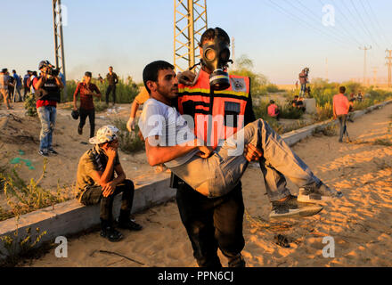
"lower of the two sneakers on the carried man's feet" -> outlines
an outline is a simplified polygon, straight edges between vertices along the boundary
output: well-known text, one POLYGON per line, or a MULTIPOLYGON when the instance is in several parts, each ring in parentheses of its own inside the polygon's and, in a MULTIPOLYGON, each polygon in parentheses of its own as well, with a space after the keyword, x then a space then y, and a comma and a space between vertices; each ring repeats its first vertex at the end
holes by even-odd
POLYGON ((298 202, 297 196, 293 195, 282 202, 274 201, 272 204, 270 218, 274 219, 314 216, 323 210, 323 206, 320 205, 302 204, 298 202))

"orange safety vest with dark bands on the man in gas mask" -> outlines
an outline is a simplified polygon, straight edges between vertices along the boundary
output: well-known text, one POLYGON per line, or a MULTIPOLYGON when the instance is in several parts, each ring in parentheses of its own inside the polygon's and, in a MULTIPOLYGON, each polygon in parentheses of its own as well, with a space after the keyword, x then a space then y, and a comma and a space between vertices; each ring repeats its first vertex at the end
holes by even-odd
POLYGON ((200 70, 195 85, 178 85, 178 111, 193 118, 194 134, 214 149, 244 124, 250 92, 249 77, 230 76, 230 87, 211 91, 209 75, 200 70))

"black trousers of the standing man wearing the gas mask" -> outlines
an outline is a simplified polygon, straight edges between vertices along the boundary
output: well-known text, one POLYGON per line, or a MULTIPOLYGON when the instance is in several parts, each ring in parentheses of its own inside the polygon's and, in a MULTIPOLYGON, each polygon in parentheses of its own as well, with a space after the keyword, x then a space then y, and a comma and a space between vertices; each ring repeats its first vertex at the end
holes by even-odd
POLYGON ((208 199, 186 183, 180 183, 176 199, 199 266, 221 267, 217 248, 228 258, 229 266, 245 265, 241 259, 245 246, 241 183, 225 196, 215 199, 208 199))

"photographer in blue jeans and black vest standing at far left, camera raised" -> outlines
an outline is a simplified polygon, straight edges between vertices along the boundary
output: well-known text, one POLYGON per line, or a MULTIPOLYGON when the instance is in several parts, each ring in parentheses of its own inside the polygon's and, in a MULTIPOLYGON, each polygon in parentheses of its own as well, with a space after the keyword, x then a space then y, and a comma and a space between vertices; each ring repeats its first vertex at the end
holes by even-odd
POLYGON ((49 61, 39 62, 38 69, 41 71, 41 76, 33 80, 33 87, 36 90, 37 113, 41 120, 38 153, 47 157, 48 152, 57 154, 57 151, 53 150, 52 139, 57 102, 60 102, 60 90, 63 85, 58 77, 59 69, 54 69, 49 61))

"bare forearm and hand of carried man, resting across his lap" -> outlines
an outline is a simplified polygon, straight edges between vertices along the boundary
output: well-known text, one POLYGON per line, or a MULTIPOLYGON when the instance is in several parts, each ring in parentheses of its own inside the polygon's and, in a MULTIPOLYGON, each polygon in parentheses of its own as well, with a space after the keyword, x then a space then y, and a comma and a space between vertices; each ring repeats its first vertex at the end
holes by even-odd
MULTIPOLYGON (((213 151, 212 148, 208 146, 200 145, 200 141, 198 139, 185 142, 183 144, 177 144, 176 146, 154 146, 156 143, 151 145, 151 137, 148 137, 145 140, 145 152, 151 167, 158 166, 159 164, 171 161, 173 159, 178 159, 188 152, 196 149, 199 149, 201 152, 200 158, 208 159, 213 151)), ((155 136, 155 140, 159 140, 158 135, 155 136)))

